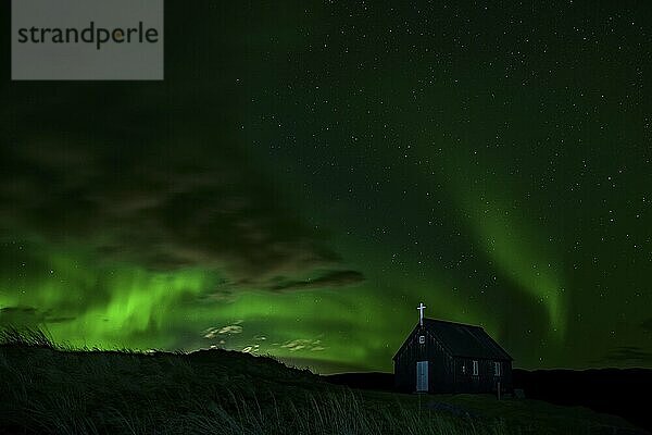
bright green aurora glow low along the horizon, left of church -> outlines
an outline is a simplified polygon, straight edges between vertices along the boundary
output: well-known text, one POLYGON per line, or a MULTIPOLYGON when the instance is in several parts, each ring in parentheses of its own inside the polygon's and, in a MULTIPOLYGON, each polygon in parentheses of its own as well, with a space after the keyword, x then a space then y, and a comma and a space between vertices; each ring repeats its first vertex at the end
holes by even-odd
MULTIPOLYGON (((405 289, 400 306, 369 282, 348 288, 346 297, 337 290, 271 295, 252 288, 233 298, 212 299, 218 282, 214 272, 100 265, 84 249, 39 246, 38 250, 42 252, 38 261, 48 271, 41 278, 4 276, 0 307, 38 307, 40 314, 26 311, 29 315, 21 319, 22 325, 45 327, 55 341, 72 346, 164 350, 216 346, 269 353, 326 372, 333 366, 388 370, 416 323, 418 301, 426 302, 429 316, 467 323, 486 319, 443 293, 449 285, 418 279, 396 284, 405 289), (229 325, 231 332, 218 333, 229 325), (217 332, 206 337, 211 328, 217 332)), ((485 326, 498 331, 496 324, 485 326)))

